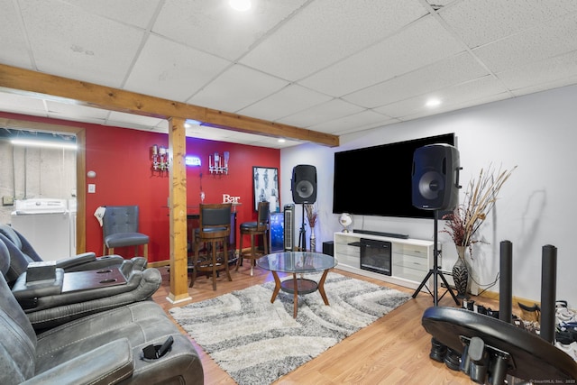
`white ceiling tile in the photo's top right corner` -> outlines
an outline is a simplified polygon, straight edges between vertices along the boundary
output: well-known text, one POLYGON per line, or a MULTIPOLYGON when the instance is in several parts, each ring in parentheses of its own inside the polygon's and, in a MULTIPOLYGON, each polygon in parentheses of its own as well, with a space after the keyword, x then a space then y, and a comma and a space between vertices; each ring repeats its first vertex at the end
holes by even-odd
POLYGON ((573 0, 475 0, 454 2, 438 14, 470 48, 476 48, 575 12, 573 0))

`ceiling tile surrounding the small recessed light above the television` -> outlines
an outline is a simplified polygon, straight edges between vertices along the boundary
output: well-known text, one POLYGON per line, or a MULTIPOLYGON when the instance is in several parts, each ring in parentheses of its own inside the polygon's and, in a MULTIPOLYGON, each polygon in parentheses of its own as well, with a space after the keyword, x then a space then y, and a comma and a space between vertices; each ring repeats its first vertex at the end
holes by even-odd
MULTIPOLYGON (((435 115, 439 111, 453 109, 453 105, 463 104, 467 101, 485 98, 491 95, 506 93, 507 89, 502 86, 499 80, 487 76, 474 81, 465 82, 453 87, 444 88, 430 94, 411 97, 390 105, 384 105, 374 110, 381 114, 406 120, 406 116, 412 115, 435 115), (435 97, 442 101, 439 108, 429 108, 426 101, 430 97, 435 97)), ((509 95, 510 97, 511 95, 509 95)), ((500 96, 499 96, 500 97, 500 96)))

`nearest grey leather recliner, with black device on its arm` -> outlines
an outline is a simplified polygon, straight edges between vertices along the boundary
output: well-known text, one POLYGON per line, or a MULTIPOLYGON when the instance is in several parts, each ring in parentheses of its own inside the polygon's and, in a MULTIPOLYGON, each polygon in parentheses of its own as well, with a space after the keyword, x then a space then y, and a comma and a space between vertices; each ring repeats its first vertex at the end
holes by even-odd
POLYGON ((194 346, 152 301, 81 317, 36 335, 5 281, 10 265, 5 243, 0 243, 0 257, 0 383, 204 383, 194 346), (158 347, 170 340, 160 355, 158 347))

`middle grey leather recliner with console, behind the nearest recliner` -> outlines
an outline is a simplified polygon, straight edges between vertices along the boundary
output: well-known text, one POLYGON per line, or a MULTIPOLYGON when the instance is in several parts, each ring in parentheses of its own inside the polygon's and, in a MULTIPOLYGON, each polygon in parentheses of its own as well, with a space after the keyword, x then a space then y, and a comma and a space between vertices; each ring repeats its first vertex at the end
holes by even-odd
MULTIPOLYGON (((0 244, 7 272, 14 244, 3 239, 0 244)), ((149 299, 162 282, 159 270, 133 269, 130 260, 100 270, 65 272, 56 266, 55 261, 30 262, 12 284, 14 298, 37 331, 149 299)))

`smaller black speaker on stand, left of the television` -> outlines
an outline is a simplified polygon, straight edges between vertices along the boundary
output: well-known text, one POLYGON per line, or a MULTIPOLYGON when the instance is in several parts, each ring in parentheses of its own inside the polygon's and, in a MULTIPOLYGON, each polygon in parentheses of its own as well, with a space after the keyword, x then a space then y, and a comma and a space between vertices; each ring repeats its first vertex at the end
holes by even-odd
POLYGON ((309 164, 299 164, 292 170, 290 184, 292 200, 303 205, 302 225, 298 233, 298 249, 307 249, 307 232, 305 230, 305 204, 316 202, 316 167, 309 164))

